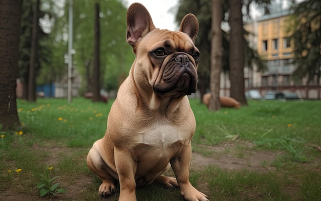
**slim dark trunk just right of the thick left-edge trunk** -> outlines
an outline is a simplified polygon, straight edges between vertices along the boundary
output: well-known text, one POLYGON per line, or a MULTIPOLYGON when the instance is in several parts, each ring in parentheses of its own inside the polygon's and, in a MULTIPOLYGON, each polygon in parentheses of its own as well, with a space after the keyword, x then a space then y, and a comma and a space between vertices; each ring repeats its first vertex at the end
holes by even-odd
POLYGON ((36 84, 35 84, 35 71, 36 71, 36 58, 37 58, 37 43, 38 43, 38 14, 39 13, 39 0, 33 5, 32 15, 32 33, 31 33, 31 50, 30 50, 30 67, 29 67, 29 81, 28 81, 28 101, 36 101, 36 84))

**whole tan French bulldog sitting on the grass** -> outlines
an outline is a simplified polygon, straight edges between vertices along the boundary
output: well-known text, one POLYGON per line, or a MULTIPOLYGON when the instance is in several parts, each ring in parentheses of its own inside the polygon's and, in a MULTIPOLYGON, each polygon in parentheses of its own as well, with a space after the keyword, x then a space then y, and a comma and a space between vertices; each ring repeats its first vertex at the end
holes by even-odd
POLYGON ((197 32, 192 14, 179 31, 159 30, 143 5, 129 7, 127 42, 136 58, 111 107, 105 136, 87 156, 103 181, 99 194, 111 194, 119 181, 119 200, 136 200, 136 186, 156 181, 179 187, 186 200, 208 200, 188 178, 195 118, 186 95, 196 91, 197 32), (176 178, 162 175, 170 167, 176 178))

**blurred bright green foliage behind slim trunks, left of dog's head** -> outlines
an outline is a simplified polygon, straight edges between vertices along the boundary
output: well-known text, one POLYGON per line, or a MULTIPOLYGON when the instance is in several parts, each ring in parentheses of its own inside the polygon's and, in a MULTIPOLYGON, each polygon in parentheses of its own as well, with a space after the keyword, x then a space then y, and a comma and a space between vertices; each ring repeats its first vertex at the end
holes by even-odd
MULTIPOLYGON (((73 63, 77 71, 85 80, 87 71, 86 63, 93 60, 94 51, 94 4, 96 1, 74 1, 73 2, 73 63)), ((118 88, 118 75, 128 73, 134 54, 132 48, 126 42, 126 12, 121 1, 100 1, 100 26, 101 26, 101 86, 107 91, 118 88)), ((62 60, 66 52, 61 44, 67 40, 63 35, 68 26, 68 4, 65 5, 64 14, 56 19, 57 23, 51 33, 56 38, 54 43, 60 49, 57 60, 62 60), (59 57, 59 58, 58 58, 59 57)), ((90 62, 89 73, 91 75, 92 64, 90 62)), ((123 80, 121 80, 123 81, 123 80)), ((83 82, 88 84, 87 81, 83 82)))

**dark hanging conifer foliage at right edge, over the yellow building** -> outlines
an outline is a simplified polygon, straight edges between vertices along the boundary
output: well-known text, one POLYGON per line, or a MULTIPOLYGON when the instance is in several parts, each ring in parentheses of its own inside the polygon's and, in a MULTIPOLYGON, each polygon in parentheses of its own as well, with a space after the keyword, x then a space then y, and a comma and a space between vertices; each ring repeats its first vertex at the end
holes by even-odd
MULTIPOLYGON (((308 83, 314 77, 320 79, 320 43, 321 43, 321 3, 318 0, 293 4, 293 16, 289 29, 294 43, 294 61, 297 68, 294 78, 302 79, 308 75, 308 83)), ((318 81, 317 81, 318 83, 318 81)))

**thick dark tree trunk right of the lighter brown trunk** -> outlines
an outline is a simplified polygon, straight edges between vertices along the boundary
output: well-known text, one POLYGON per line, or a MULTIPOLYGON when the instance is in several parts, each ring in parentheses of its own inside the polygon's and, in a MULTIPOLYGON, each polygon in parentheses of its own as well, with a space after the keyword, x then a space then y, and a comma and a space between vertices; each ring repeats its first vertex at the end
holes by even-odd
POLYGON ((244 33, 242 1, 229 0, 230 4, 230 95, 242 105, 247 105, 244 84, 244 33))

